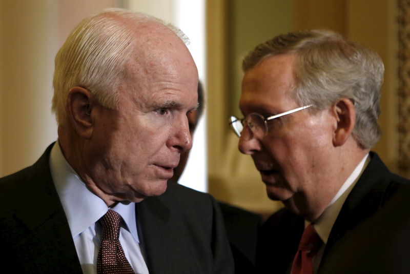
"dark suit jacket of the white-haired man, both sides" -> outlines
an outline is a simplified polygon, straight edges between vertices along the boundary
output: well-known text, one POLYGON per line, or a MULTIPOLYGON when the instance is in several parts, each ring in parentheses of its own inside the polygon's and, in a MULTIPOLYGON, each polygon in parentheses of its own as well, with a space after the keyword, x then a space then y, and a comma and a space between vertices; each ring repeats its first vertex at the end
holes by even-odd
MULTIPOLYGON (((50 150, 33 166, 0 179, 4 273, 81 273, 51 178, 50 150)), ((136 206, 150 273, 233 273, 222 216, 209 194, 173 185, 136 206)))

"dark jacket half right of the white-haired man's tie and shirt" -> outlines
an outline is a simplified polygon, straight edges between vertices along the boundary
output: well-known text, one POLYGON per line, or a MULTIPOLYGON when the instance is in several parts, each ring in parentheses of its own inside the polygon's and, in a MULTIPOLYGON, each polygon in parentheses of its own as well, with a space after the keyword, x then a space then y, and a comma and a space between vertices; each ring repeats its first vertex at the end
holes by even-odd
POLYGON ((150 273, 233 273, 232 253, 215 199, 173 182, 137 204, 150 273), (184 259, 187 258, 187 259, 184 259))

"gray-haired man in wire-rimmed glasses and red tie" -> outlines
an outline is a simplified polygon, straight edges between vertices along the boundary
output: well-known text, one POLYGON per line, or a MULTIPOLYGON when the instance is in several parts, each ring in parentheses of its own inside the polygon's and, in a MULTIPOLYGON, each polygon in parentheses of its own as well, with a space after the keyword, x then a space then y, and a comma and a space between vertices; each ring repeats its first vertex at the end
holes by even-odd
POLYGON ((337 33, 311 30, 260 44, 242 67, 244 119, 231 118, 239 150, 285 206, 263 225, 256 264, 261 273, 320 272, 335 244, 408 183, 370 151, 383 63, 337 33))

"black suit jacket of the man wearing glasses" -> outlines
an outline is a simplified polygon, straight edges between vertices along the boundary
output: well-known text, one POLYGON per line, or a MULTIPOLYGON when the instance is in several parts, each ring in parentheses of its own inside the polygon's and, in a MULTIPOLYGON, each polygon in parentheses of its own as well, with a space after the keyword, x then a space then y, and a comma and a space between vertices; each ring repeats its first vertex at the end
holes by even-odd
MULTIPOLYGON (((335 244, 344 241, 346 233, 373 216, 402 185, 408 184, 406 179, 389 172, 376 153, 371 152, 370 156, 372 160, 348 195, 333 225, 318 273, 331 273, 321 272, 321 267, 324 263, 332 264, 328 259, 337 260, 332 256, 328 258, 335 244)), ((275 269, 275 273, 289 272, 303 229, 303 218, 288 209, 283 208, 273 214, 262 226, 258 239, 258 271, 271 273, 275 269)))

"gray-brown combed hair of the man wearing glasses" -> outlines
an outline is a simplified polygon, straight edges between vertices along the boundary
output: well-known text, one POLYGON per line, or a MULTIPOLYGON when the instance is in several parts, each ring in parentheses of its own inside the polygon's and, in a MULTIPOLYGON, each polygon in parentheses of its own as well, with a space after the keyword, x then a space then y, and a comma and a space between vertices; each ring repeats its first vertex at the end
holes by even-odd
POLYGON ((330 30, 296 31, 258 45, 244 58, 242 69, 278 54, 296 56, 294 95, 301 105, 322 110, 348 98, 356 110, 353 136, 364 148, 377 143, 384 65, 376 52, 330 30))

